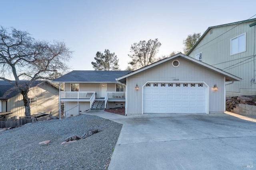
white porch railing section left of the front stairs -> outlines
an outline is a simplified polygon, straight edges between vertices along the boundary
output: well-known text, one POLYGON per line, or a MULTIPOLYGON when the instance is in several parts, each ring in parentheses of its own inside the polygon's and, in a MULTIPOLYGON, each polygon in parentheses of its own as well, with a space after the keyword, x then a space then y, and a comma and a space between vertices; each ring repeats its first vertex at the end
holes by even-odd
POLYGON ((95 92, 60 92, 61 99, 90 99, 95 92))

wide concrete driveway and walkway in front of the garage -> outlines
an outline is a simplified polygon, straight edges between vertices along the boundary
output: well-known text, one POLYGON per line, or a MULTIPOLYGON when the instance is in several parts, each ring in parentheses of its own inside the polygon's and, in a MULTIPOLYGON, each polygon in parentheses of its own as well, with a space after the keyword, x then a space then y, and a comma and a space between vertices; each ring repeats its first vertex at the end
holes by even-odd
POLYGON ((227 114, 89 114, 122 123, 108 170, 256 169, 256 123, 227 114))

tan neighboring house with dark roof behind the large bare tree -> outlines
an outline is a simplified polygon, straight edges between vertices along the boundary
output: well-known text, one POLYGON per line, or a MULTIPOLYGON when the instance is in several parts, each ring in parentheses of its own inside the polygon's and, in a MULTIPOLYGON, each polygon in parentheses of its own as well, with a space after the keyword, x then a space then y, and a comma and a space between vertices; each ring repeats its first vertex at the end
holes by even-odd
MULTIPOLYGON (((26 83, 27 80, 20 80, 26 83)), ((25 116, 23 96, 13 85, 7 81, 0 80, 0 116, 19 118, 25 116)), ((59 89, 48 81, 35 81, 28 92, 31 115, 37 112, 52 112, 59 115, 59 89)))

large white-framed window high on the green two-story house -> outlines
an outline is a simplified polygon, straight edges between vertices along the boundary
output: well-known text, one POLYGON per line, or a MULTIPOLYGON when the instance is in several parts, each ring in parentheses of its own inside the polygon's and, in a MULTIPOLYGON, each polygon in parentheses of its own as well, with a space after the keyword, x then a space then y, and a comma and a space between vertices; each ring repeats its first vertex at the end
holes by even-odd
POLYGON ((230 55, 246 51, 246 33, 230 39, 230 55))

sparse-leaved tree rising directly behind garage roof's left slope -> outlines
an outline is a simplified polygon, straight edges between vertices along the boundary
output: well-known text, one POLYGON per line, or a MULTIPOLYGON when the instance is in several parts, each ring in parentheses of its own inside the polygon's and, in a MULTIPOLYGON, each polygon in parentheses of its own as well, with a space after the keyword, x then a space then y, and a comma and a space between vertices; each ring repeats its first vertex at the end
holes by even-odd
POLYGON ((130 48, 130 55, 128 55, 132 61, 128 64, 131 65, 132 69, 142 68, 156 61, 155 56, 159 51, 161 43, 158 39, 140 41, 134 43, 130 48))

